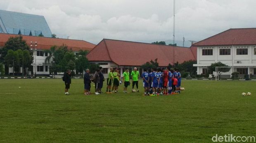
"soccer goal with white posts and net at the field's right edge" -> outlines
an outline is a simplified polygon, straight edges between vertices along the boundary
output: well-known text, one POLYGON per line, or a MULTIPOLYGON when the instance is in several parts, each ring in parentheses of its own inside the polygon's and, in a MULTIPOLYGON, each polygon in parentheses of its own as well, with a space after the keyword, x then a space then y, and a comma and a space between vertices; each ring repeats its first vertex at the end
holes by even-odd
POLYGON ((231 78, 232 77, 232 73, 233 72, 239 72, 242 73, 243 75, 250 75, 254 73, 254 69, 256 69, 256 66, 227 66, 227 67, 215 67, 215 80, 218 81, 221 78, 219 77, 219 72, 220 75, 222 76, 226 76, 231 78), (229 69, 229 70, 228 70, 229 69), (239 71, 237 71, 237 69, 239 69, 239 71), (227 74, 228 73, 228 74, 227 74))

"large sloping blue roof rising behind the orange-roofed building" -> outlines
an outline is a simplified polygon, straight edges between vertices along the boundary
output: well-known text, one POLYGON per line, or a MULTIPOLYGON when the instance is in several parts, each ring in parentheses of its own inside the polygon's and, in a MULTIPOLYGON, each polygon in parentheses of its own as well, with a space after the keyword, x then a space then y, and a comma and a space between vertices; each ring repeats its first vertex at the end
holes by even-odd
POLYGON ((44 16, 0 10, 0 32, 52 37, 44 16))

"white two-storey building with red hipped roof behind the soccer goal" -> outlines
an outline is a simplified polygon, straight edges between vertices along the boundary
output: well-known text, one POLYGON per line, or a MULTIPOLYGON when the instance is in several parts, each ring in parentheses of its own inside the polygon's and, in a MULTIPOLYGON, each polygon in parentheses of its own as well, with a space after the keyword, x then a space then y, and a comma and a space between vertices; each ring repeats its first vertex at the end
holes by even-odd
POLYGON ((197 64, 193 65, 197 74, 205 74, 214 62, 232 67, 222 78, 230 78, 234 71, 242 78, 256 74, 256 28, 229 29, 193 46, 197 47, 197 64))

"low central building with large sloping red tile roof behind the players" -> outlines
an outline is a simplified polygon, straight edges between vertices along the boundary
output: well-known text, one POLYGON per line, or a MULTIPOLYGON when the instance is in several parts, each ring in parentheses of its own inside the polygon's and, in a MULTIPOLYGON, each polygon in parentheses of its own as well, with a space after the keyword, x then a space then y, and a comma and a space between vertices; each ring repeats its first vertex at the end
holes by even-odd
POLYGON ((105 69, 105 73, 110 67, 119 67, 122 73, 122 68, 140 67, 156 58, 159 67, 166 67, 169 63, 196 60, 197 52, 195 47, 185 48, 103 39, 88 53, 87 58, 90 62, 99 63, 105 69))

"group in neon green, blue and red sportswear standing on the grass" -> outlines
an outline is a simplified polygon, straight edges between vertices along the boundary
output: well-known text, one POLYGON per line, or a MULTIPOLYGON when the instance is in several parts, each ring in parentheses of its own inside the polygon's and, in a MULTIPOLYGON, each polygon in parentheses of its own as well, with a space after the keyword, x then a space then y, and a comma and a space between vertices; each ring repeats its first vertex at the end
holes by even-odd
MULTIPOLYGON (((138 90, 138 79, 140 77, 139 71, 135 67, 131 74, 127 68, 123 72, 123 81, 120 82, 119 69, 110 69, 107 78, 107 93, 118 92, 119 83, 124 83, 123 92, 127 92, 127 88, 130 85, 130 78, 132 79, 132 92, 136 92, 134 87, 136 85, 138 90), (111 85, 113 81, 113 87, 111 85)), ((142 73, 144 95, 156 96, 156 95, 170 95, 180 93, 181 74, 178 69, 144 69, 142 73)))

